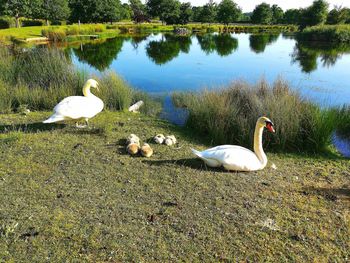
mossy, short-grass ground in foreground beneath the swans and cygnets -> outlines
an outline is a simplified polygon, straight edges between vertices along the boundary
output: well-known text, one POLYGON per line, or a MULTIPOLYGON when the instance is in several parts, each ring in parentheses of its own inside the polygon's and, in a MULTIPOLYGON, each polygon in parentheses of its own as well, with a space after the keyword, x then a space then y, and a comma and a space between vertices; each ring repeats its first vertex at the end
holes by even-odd
POLYGON ((0 115, 0 261, 350 260, 350 162, 268 154, 277 170, 209 169, 208 140, 138 114, 93 128, 0 115), (148 159, 125 138, 174 134, 148 159))

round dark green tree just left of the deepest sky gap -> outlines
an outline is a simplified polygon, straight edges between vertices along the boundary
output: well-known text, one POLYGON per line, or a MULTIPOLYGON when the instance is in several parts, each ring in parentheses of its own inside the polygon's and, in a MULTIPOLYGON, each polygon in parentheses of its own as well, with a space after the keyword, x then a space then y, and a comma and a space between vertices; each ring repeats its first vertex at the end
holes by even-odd
POLYGON ((232 0, 222 0, 218 6, 217 21, 228 25, 236 22, 242 15, 241 9, 232 0))

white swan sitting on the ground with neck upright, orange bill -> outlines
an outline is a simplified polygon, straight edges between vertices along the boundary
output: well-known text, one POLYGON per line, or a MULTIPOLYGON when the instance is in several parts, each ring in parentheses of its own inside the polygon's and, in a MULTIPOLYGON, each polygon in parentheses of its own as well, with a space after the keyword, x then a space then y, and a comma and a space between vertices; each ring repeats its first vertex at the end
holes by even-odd
POLYGON ((210 167, 223 166, 229 171, 258 171, 267 165, 267 157, 262 147, 264 128, 275 132, 273 123, 266 117, 256 122, 254 133, 254 152, 236 145, 217 146, 203 152, 192 149, 192 152, 201 158, 210 167))

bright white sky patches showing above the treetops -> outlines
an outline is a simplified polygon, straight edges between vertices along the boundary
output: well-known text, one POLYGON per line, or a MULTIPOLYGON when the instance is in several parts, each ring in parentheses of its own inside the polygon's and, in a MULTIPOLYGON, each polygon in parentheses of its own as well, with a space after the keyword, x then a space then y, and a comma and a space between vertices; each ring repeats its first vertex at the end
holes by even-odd
MULTIPOLYGON (((202 6, 208 2, 208 0, 180 0, 181 2, 191 2, 193 6, 202 6)), ((122 0, 123 3, 128 2, 128 0, 122 0)), ((143 1, 145 2, 145 1, 143 1)), ((215 2, 220 2, 220 0, 217 0, 215 2)), ((290 9, 290 8, 299 8, 299 7, 306 7, 312 4, 313 0, 235 0, 235 3, 237 3, 242 9, 243 12, 251 12, 254 10, 255 6, 265 2, 270 5, 278 4, 280 7, 283 8, 283 10, 290 9)), ((337 6, 343 6, 343 7, 350 7, 350 0, 328 0, 328 3, 330 4, 330 8, 333 8, 334 5, 337 6)))

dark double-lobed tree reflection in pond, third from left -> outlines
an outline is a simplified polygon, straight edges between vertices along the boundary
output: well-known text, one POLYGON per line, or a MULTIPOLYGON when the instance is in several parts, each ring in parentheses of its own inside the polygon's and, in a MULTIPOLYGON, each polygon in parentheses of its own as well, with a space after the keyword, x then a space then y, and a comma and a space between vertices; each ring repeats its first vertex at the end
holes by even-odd
POLYGON ((230 34, 197 35, 197 40, 202 51, 207 55, 216 51, 220 56, 225 57, 238 48, 238 39, 230 34))

